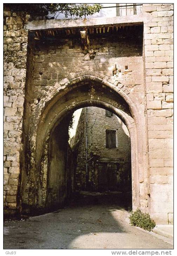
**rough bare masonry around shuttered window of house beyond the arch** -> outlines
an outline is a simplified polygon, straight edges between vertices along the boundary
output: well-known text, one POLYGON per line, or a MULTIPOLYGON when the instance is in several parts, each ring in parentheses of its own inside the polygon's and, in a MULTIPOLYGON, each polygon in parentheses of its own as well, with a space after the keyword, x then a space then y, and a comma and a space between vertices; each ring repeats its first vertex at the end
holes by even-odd
MULTIPOLYGON (((87 159, 95 157, 100 162, 119 163, 119 171, 131 175, 131 145, 129 132, 125 124, 115 115, 105 116, 105 109, 97 107, 83 108, 75 138, 73 138, 73 147, 77 147, 77 166, 76 166, 76 189, 86 188, 86 125, 87 125, 87 159), (116 148, 106 148, 105 130, 116 130, 116 148)), ((91 162, 92 163, 92 162, 91 162)), ((89 187, 97 190, 95 182, 95 167, 88 162, 89 169, 89 187)), ((97 175, 96 175, 97 176, 97 175)), ((97 177, 96 177, 97 180, 97 177)))

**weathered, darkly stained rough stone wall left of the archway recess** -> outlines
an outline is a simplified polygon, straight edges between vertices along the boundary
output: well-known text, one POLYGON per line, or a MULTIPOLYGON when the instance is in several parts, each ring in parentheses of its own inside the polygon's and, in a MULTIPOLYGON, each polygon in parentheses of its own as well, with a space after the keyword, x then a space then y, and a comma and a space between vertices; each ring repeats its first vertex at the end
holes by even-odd
POLYGON ((21 14, 4 11, 4 207, 16 210, 28 32, 21 14))

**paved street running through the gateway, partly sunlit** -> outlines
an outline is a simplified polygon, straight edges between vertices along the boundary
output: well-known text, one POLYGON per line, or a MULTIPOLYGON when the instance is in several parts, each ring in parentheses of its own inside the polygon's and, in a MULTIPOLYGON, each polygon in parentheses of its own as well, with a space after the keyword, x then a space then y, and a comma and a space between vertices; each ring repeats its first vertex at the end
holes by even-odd
POLYGON ((5 221, 4 249, 172 249, 148 231, 131 227, 116 205, 68 206, 20 221, 5 221))

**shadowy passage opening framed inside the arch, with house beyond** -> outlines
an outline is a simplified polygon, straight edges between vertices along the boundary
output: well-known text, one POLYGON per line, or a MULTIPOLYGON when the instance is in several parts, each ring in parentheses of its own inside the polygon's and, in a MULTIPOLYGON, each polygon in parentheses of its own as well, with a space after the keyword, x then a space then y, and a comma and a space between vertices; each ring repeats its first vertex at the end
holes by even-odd
POLYGON ((47 207, 116 203, 131 208, 131 144, 112 112, 85 107, 69 113, 49 139, 47 207))

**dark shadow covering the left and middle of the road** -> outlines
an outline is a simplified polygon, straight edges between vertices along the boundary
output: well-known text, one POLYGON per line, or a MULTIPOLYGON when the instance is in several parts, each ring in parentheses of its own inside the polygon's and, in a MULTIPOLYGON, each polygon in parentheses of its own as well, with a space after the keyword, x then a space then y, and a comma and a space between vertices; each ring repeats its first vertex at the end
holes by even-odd
POLYGON ((25 221, 5 222, 5 249, 67 249, 77 237, 126 232, 111 212, 117 194, 76 193, 69 206, 25 221))

